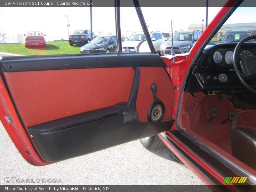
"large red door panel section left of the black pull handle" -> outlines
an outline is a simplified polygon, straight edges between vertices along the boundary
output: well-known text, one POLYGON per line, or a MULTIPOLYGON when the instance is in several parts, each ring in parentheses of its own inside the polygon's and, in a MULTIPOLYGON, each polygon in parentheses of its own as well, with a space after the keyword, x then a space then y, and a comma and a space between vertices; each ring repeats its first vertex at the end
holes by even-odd
POLYGON ((4 73, 26 127, 127 102, 133 76, 132 68, 4 73))

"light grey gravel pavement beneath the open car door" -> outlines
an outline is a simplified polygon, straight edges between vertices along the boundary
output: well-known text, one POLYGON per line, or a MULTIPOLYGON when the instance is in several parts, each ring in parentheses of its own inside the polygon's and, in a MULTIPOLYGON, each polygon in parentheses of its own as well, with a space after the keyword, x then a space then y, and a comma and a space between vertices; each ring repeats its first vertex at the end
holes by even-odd
MULTIPOLYGON (((188 168, 171 161, 169 149, 149 151, 139 140, 46 166, 28 164, 0 126, 1 185, 4 178, 62 179, 55 185, 204 185, 188 168)), ((53 184, 53 183, 32 183, 53 184)))

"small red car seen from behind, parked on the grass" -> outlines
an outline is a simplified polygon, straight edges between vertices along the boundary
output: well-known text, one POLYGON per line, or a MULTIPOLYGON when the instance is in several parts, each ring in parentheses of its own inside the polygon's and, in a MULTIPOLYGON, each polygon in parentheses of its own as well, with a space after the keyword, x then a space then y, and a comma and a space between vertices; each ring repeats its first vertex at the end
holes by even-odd
POLYGON ((25 38, 25 47, 29 46, 45 46, 44 34, 41 31, 28 31, 25 38))

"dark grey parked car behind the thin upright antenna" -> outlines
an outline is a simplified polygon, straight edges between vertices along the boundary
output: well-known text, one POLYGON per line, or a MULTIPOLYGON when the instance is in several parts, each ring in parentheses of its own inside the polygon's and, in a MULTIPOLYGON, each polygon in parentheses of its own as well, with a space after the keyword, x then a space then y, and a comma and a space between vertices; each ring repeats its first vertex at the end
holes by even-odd
MULTIPOLYGON (((173 33, 173 52, 176 54, 189 52, 201 34, 202 32, 199 30, 175 31, 173 33)), ((172 35, 170 35, 167 41, 161 44, 160 53, 161 55, 172 54, 172 35)))

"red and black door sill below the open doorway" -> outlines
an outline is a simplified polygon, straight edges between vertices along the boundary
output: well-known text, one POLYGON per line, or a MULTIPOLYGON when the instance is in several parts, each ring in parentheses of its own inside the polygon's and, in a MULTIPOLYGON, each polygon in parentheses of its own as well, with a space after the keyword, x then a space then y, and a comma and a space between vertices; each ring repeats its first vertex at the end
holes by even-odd
MULTIPOLYGON (((248 187, 251 188, 250 185, 255 185, 256 183, 255 176, 229 161, 226 157, 222 156, 217 151, 213 150, 202 141, 183 130, 171 130, 169 132, 160 133, 159 136, 165 141, 165 143, 170 145, 171 148, 174 148, 174 150, 188 161, 189 164, 192 164, 196 171, 213 185, 223 185, 223 183, 220 182, 220 180, 217 180, 211 172, 217 173, 224 179, 228 176, 248 177, 246 184, 249 186, 233 185, 232 188, 236 188, 236 190, 247 191, 248 187), (205 166, 202 166, 202 164, 184 151, 184 148, 182 149, 181 146, 188 149, 196 158, 199 158, 205 166), (205 167, 210 167, 212 171, 210 172, 206 170, 205 167)), ((229 187, 230 186, 228 186, 228 188, 229 187)), ((255 188, 255 186, 253 186, 253 188, 255 188)))

